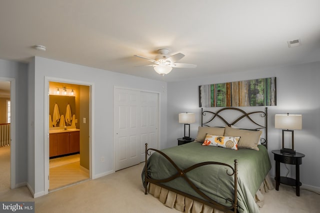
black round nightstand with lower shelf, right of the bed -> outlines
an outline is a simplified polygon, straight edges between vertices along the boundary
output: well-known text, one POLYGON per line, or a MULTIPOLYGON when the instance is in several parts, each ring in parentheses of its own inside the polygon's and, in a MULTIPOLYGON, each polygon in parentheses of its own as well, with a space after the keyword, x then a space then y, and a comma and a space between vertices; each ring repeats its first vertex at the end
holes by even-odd
POLYGON ((295 186, 296 196, 300 196, 300 171, 299 165, 302 164, 302 158, 305 156, 302 153, 295 154, 281 153, 280 150, 272 150, 275 161, 275 190, 279 190, 279 185, 285 184, 295 186), (280 163, 295 165, 295 180, 287 177, 280 177, 280 163))

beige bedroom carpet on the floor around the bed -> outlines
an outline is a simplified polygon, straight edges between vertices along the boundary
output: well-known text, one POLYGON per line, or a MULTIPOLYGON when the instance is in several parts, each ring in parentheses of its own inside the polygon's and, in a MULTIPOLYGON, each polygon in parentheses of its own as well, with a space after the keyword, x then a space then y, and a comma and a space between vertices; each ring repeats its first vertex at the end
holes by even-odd
MULTIPOLYGON (((179 213, 165 207, 151 195, 144 195, 143 164, 114 174, 79 183, 33 199, 26 187, 0 193, 0 201, 35 201, 36 213, 179 213)), ((318 213, 320 195, 280 185, 265 195, 260 213, 318 213)))

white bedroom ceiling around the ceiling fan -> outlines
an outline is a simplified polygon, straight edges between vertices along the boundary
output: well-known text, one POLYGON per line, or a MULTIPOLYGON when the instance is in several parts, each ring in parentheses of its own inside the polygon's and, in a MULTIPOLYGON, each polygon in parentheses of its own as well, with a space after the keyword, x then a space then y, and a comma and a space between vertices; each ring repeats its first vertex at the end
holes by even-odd
POLYGON ((320 0, 1 0, 0 58, 36 55, 164 81, 319 61, 319 9, 320 0), (302 45, 288 48, 294 39, 302 45), (162 78, 133 56, 163 47, 197 67, 162 78))

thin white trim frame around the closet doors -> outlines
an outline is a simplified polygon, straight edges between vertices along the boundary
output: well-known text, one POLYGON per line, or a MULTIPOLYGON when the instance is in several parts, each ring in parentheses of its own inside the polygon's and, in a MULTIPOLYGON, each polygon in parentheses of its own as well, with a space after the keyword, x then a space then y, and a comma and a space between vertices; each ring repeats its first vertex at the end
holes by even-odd
POLYGON ((132 91, 139 91, 139 92, 150 92, 155 93, 158 95, 158 135, 157 135, 157 142, 156 142, 156 149, 159 149, 159 142, 160 142, 160 118, 161 118, 161 109, 160 109, 160 100, 161 100, 161 93, 158 91, 152 91, 152 90, 143 90, 143 89, 137 89, 137 88, 129 88, 129 87, 121 87, 121 86, 113 86, 113 173, 115 172, 115 137, 116 137, 116 131, 114 127, 114 90, 115 89, 126 89, 126 90, 132 90, 132 91))

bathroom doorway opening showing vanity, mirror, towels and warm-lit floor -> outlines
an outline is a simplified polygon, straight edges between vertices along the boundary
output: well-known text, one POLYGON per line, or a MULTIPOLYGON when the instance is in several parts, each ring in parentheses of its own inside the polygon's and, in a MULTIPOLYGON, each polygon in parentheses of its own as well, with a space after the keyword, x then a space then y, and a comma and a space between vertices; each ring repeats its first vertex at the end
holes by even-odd
POLYGON ((90 86, 49 81, 48 192, 90 179, 90 86))

